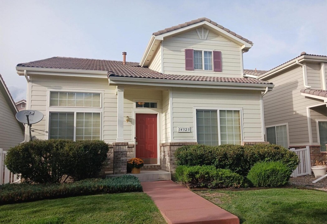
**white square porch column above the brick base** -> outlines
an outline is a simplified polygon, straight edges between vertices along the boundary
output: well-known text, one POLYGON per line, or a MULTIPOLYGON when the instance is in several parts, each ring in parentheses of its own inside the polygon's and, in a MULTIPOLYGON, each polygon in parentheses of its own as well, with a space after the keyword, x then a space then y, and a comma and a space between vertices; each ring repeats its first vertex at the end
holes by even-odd
POLYGON ((117 87, 117 142, 124 142, 124 87, 117 87))

